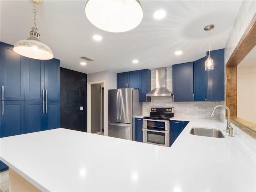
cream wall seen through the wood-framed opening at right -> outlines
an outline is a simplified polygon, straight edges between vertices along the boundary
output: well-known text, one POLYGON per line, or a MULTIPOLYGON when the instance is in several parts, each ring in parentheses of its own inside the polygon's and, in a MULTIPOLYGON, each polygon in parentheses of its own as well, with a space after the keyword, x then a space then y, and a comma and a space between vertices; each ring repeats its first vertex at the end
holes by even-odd
POLYGON ((237 117, 256 124, 256 65, 237 67, 237 117))

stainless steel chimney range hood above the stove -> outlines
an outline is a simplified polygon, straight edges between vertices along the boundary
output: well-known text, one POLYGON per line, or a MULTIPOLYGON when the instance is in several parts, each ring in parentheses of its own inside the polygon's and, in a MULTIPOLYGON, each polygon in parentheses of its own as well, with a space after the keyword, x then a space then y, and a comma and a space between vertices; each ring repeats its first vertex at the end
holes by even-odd
POLYGON ((166 88, 166 68, 156 68, 156 88, 146 94, 153 96, 172 96, 172 92, 166 88))

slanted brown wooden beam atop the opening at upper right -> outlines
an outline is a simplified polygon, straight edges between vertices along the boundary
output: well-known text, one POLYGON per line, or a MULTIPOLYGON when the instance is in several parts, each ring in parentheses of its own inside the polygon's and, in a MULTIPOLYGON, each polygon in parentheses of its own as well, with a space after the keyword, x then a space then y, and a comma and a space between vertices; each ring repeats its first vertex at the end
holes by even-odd
POLYGON ((234 52, 230 56, 226 67, 238 66, 238 64, 244 59, 244 57, 254 48, 256 45, 256 14, 252 18, 250 24, 246 28, 244 35, 238 42, 234 52))

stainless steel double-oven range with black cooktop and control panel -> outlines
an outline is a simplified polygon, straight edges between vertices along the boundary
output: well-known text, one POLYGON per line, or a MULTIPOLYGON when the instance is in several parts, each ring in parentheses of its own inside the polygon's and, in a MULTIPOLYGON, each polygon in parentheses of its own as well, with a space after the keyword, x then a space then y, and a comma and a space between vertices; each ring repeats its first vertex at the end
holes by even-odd
POLYGON ((150 107, 150 116, 143 117, 143 142, 170 147, 170 118, 173 107, 150 107))

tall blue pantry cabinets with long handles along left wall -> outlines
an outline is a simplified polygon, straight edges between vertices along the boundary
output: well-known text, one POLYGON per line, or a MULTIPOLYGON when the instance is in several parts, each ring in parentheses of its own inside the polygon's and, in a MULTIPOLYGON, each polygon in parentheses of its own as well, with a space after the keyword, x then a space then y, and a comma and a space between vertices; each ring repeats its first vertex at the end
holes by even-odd
POLYGON ((60 61, 20 56, 3 42, 0 51, 0 136, 59 128, 60 61))

